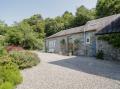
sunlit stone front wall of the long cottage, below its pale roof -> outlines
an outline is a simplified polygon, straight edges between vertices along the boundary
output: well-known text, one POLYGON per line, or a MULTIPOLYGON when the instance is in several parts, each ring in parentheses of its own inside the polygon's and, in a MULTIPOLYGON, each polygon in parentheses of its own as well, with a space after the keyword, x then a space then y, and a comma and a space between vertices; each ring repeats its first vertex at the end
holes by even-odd
POLYGON ((78 34, 71 34, 56 38, 50 38, 46 40, 46 48, 49 49, 49 41, 55 40, 56 45, 54 47, 54 53, 59 53, 63 55, 68 55, 70 53, 70 43, 72 44, 72 53, 73 55, 77 56, 95 56, 96 55, 96 37, 95 37, 95 31, 85 32, 85 38, 84 33, 78 33, 78 34), (90 43, 87 44, 84 41, 87 37, 90 37, 90 43), (65 40, 65 43, 61 47, 61 40, 65 40), (78 46, 75 43, 75 40, 79 41, 78 46), (76 48, 77 47, 77 48, 76 48))

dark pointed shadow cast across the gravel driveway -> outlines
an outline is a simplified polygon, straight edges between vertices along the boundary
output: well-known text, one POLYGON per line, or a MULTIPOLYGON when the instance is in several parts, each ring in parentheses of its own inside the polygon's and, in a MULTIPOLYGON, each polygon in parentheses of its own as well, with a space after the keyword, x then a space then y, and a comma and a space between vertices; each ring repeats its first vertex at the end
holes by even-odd
POLYGON ((49 63, 88 74, 120 80, 120 63, 97 60, 92 57, 73 57, 49 63))

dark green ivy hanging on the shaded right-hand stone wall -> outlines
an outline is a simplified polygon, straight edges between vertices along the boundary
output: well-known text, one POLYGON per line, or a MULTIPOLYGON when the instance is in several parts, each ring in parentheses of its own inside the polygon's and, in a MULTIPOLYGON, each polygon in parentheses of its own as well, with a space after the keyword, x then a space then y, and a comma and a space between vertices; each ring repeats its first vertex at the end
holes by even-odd
POLYGON ((113 47, 120 48, 120 33, 101 35, 98 37, 98 40, 107 41, 113 47))

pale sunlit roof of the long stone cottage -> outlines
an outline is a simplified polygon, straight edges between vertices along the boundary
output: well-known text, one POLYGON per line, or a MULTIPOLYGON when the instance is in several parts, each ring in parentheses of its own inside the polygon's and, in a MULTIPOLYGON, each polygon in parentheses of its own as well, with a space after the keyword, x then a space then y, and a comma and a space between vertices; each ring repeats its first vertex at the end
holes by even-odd
MULTIPOLYGON (((69 34, 74 34, 74 33, 77 33, 77 32, 81 32, 83 29, 82 28, 86 28, 87 25, 91 25, 93 23, 95 23, 95 26, 96 26, 96 23, 97 22, 100 22, 100 23, 97 23, 97 24, 101 24, 101 23, 105 23, 106 20, 109 20, 109 18, 112 18, 111 20, 114 20, 114 18, 116 17, 119 17, 120 14, 114 14, 114 15, 110 15, 110 16, 106 16, 106 17, 103 17, 103 18, 99 18, 99 19, 94 19, 94 20, 90 20, 88 21, 85 25, 82 25, 82 26, 78 26, 78 27, 73 27, 73 28, 69 28, 69 29, 65 29, 65 30, 62 30, 62 31, 59 31, 47 38, 53 38, 53 37, 58 37, 58 36, 63 36, 63 35, 69 35, 69 34), (79 28, 79 29, 78 29, 79 28), (74 32, 73 32, 74 30, 74 32)), ((92 26, 92 25, 91 25, 92 26)), ((94 26, 94 24, 93 24, 94 26)), ((88 28, 88 27, 87 27, 88 28)), ((92 29, 93 30, 93 29, 92 29)), ((87 31, 87 30, 86 30, 87 31)), ((89 30, 88 30, 89 31, 89 30)))

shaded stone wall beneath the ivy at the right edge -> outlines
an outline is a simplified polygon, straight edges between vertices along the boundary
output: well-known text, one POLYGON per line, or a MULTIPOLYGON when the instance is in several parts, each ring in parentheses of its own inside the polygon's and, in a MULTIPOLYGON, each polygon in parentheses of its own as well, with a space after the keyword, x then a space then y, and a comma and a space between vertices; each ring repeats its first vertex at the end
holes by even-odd
POLYGON ((112 45, 107 42, 97 40, 97 52, 98 50, 102 50, 104 52, 104 59, 120 61, 120 49, 112 47, 112 45))

